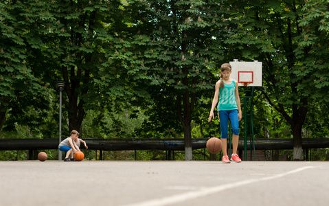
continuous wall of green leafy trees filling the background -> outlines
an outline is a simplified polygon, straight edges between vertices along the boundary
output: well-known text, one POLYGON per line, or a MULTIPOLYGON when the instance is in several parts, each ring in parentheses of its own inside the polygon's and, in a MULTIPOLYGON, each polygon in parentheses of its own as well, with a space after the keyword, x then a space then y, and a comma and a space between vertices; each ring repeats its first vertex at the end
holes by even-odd
POLYGON ((0 129, 51 130, 54 89, 65 80, 65 130, 183 133, 190 148, 192 127, 200 130, 193 135, 216 134, 209 126, 218 122, 203 120, 216 73, 238 58, 263 62, 255 113, 271 118, 258 118, 259 133, 288 136, 287 123, 295 148, 305 129, 328 133, 328 118, 318 116, 329 102, 326 1, 27 0, 0 9, 0 129))

